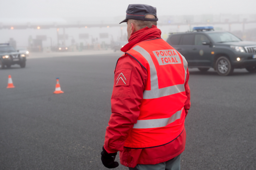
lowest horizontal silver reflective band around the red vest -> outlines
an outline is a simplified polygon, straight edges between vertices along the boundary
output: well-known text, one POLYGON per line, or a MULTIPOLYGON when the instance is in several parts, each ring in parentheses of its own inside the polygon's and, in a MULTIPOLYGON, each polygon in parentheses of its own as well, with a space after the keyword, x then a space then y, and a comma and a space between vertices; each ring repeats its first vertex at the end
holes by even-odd
POLYGON ((177 119, 181 118, 181 112, 183 108, 176 113, 174 113, 169 118, 163 119, 149 119, 149 120, 137 120, 137 123, 133 125, 134 129, 147 129, 147 128, 156 128, 156 127, 164 127, 174 122, 177 119))

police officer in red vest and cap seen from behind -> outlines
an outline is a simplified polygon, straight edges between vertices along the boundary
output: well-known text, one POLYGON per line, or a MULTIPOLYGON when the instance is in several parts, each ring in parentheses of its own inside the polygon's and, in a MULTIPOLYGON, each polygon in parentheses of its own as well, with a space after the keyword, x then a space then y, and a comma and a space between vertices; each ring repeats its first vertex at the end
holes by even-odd
POLYGON ((115 68, 102 163, 116 168, 120 151, 129 170, 179 170, 190 108, 187 61, 161 39, 155 7, 133 4, 126 13, 129 43, 115 68))

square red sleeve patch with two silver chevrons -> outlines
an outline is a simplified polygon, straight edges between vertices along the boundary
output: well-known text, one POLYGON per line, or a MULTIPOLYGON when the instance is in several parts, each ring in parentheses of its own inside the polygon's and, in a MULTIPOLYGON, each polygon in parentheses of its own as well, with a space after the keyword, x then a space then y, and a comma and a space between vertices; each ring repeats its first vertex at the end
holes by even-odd
POLYGON ((114 86, 129 86, 131 73, 131 68, 122 68, 120 70, 116 70, 114 86))

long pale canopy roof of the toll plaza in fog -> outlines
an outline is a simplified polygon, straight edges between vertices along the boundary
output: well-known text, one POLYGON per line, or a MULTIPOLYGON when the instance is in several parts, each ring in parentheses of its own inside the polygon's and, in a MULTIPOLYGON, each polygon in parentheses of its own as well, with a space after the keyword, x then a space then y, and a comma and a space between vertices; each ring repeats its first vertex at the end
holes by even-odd
MULTIPOLYGON (((180 15, 180 16, 160 16, 158 25, 228 25, 256 24, 256 15, 180 15)), ((90 27, 122 27, 118 24, 120 17, 114 18, 52 18, 52 19, 23 19, 10 20, 0 19, 1 29, 49 29, 49 28, 90 28, 90 27)), ((230 31, 230 30, 229 30, 230 31)))

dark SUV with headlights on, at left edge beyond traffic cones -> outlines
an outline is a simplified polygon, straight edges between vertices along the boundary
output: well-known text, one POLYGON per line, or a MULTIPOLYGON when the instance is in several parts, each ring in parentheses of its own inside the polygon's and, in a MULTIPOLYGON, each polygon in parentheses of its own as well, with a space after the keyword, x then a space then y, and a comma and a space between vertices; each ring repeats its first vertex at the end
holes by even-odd
POLYGON ((11 67, 11 65, 19 64, 20 67, 26 66, 26 53, 15 50, 9 44, 0 44, 0 69, 11 67))

